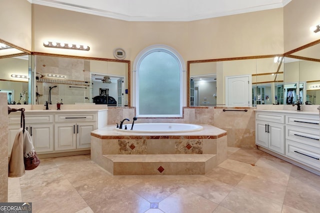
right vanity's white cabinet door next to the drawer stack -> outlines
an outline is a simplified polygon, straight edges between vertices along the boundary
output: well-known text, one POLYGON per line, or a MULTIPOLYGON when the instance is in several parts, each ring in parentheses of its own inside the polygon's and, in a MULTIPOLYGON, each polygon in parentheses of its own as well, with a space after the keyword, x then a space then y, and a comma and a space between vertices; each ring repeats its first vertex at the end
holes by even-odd
POLYGON ((284 125, 269 123, 269 149, 284 154, 284 125))

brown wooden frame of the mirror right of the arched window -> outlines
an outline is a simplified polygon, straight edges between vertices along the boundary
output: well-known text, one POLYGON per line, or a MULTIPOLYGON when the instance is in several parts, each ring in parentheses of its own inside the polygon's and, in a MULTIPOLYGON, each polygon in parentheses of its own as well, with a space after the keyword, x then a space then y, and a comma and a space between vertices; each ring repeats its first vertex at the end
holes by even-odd
MULTIPOLYGON (((257 55, 257 56, 243 56, 243 57, 232 57, 232 58, 217 58, 217 59, 205 59, 205 60, 191 60, 187 61, 187 72, 186 72, 186 96, 187 96, 187 107, 190 106, 190 64, 191 63, 206 63, 206 62, 218 62, 218 61, 232 61, 232 60, 245 60, 245 59, 260 59, 260 58, 273 58, 275 56, 283 57, 283 54, 275 54, 275 55, 257 55)), ((279 68, 277 69, 277 71, 279 68)), ((258 74, 254 74, 256 76, 258 74)))

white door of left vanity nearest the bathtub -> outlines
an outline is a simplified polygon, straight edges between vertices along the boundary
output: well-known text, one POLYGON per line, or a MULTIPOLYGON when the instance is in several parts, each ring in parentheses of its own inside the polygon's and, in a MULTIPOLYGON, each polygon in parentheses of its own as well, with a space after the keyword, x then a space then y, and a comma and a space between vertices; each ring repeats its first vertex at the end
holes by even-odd
POLYGON ((91 132, 95 130, 95 122, 76 124, 76 148, 90 148, 91 132))

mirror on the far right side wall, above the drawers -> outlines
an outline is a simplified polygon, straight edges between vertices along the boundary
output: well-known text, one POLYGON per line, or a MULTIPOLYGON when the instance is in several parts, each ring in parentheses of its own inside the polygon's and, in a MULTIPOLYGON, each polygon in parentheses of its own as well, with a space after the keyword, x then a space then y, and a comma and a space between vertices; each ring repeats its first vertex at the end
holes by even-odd
POLYGON ((320 40, 292 50, 284 58, 285 104, 320 104, 320 40))

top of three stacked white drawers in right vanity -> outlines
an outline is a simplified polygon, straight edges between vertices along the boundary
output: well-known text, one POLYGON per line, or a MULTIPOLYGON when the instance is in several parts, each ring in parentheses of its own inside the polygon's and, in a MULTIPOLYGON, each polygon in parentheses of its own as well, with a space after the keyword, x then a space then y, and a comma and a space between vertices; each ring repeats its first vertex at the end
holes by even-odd
POLYGON ((315 128, 318 131, 320 130, 318 115, 287 115, 285 123, 299 127, 315 128))

